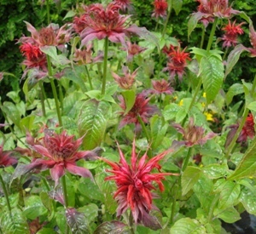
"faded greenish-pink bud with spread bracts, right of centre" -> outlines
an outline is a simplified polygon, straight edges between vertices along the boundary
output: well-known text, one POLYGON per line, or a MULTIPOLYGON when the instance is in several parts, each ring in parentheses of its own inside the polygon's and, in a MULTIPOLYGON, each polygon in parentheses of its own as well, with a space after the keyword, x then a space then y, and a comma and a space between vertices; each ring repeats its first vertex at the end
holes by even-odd
POLYGON ((204 128, 194 125, 193 118, 189 119, 187 128, 183 128, 180 124, 173 124, 173 127, 176 128, 179 133, 183 134, 184 144, 188 147, 204 145, 207 140, 210 140, 217 135, 212 132, 205 134, 204 128))

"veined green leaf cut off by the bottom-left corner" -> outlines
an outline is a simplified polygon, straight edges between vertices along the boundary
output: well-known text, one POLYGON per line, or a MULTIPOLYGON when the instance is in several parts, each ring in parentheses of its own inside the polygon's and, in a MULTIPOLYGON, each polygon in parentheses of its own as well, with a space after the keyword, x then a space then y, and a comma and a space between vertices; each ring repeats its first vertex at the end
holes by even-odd
POLYGON ((12 209, 12 217, 9 212, 0 213, 0 226, 4 234, 29 234, 29 228, 25 217, 18 208, 12 209))

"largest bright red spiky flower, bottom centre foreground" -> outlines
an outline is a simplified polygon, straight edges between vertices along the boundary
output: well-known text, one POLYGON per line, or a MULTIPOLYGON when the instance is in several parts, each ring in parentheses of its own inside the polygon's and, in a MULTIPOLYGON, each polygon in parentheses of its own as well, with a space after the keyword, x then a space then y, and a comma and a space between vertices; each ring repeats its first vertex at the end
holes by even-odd
POLYGON ((166 175, 172 174, 151 174, 151 171, 156 168, 160 172, 161 167, 159 161, 171 150, 164 151, 152 157, 148 160, 148 163, 146 163, 147 152, 138 160, 134 140, 131 151, 131 165, 129 165, 119 145, 118 149, 120 157, 119 163, 113 163, 106 158, 101 158, 113 168, 112 170, 107 170, 113 175, 106 177, 105 180, 114 180, 118 188, 113 196, 118 202, 117 217, 125 213, 128 208, 131 208, 135 223, 147 225, 150 223, 150 219, 153 218, 149 215, 149 211, 152 208, 156 209, 152 204, 152 199, 155 195, 151 191, 156 190, 153 182, 159 186, 160 191, 164 191, 164 185, 161 180, 164 180, 166 175))

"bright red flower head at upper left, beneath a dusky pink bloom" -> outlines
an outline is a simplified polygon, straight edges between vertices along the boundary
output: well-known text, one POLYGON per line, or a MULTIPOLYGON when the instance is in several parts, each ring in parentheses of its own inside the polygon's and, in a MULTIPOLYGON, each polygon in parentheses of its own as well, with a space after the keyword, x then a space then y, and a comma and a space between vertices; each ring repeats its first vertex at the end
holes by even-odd
POLYGON ((23 43, 20 45, 20 52, 24 57, 26 57, 26 60, 23 61, 23 64, 28 68, 46 68, 46 56, 39 49, 38 45, 33 45, 32 43, 23 43))

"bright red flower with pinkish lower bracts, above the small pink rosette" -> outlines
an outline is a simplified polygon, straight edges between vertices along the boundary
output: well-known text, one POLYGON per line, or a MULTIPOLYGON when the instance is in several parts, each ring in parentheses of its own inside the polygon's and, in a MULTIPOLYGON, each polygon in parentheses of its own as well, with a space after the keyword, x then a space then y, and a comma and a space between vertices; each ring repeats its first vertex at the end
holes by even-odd
POLYGON ((177 49, 172 47, 167 54, 169 62, 167 62, 167 66, 164 71, 169 71, 172 79, 176 75, 179 79, 182 79, 185 67, 187 66, 187 60, 191 60, 189 58, 189 53, 186 53, 185 50, 186 48, 181 50, 180 46, 178 46, 177 49))

